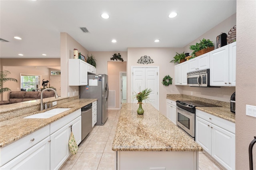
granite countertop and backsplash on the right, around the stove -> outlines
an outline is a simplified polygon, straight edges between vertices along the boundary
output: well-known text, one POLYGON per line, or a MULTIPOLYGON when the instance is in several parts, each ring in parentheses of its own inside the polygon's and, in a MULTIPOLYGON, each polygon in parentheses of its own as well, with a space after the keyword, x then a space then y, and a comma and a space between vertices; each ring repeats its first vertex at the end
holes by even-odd
POLYGON ((228 102, 216 101, 212 99, 205 99, 201 97, 194 97, 194 96, 188 96, 188 95, 177 95, 177 94, 166 95, 166 99, 170 99, 173 101, 198 100, 206 103, 211 103, 213 105, 218 105, 220 107, 196 107, 196 109, 215 115, 217 117, 221 117, 223 119, 226 119, 234 123, 236 122, 236 116, 234 113, 230 111, 230 103, 228 102))

